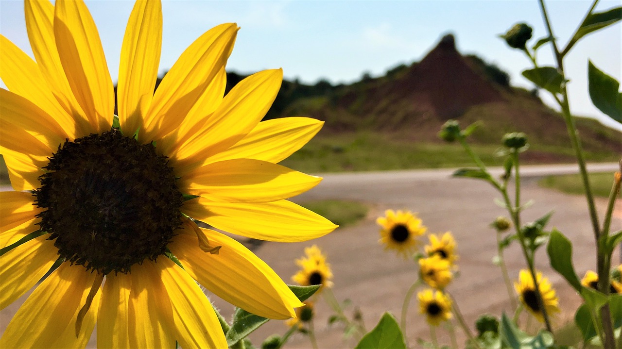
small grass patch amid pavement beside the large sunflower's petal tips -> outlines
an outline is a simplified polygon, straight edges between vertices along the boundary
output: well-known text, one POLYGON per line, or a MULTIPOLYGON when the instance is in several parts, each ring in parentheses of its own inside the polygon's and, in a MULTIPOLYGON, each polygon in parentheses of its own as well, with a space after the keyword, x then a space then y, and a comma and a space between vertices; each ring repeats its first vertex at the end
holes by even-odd
POLYGON ((366 217, 368 211, 368 207, 361 202, 345 200, 305 201, 300 206, 323 215, 340 227, 356 224, 366 217))

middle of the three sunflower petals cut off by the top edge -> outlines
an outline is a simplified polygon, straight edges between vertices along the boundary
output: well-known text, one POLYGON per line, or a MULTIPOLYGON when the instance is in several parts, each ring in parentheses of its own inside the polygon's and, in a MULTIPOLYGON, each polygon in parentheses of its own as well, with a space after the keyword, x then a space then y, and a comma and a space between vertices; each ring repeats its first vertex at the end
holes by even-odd
POLYGON ((63 70, 91 127, 110 129, 114 114, 113 82, 100 34, 83 1, 57 0, 54 37, 63 70))

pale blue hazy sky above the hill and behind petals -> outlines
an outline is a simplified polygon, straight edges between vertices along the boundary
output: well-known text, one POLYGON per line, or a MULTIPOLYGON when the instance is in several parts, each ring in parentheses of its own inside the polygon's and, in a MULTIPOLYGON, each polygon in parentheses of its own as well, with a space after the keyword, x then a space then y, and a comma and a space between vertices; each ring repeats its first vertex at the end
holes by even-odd
MULTIPOLYGON (((133 1, 86 1, 103 43, 108 68, 116 83, 121 42, 133 1)), ((590 7, 591 1, 545 2, 555 37, 564 47, 590 7)), ((603 0, 596 12, 620 6, 603 0)), ((519 51, 511 50, 498 35, 518 22, 534 28, 534 38, 547 36, 537 0, 341 0, 341 1, 204 1, 164 0, 164 28, 160 71, 165 71, 183 50, 211 27, 236 22, 238 32, 228 70, 254 73, 283 68, 286 79, 303 83, 328 79, 351 83, 364 73, 383 75, 399 64, 419 61, 448 33, 456 37, 463 54, 475 53, 508 71, 511 84, 531 89, 521 71, 532 68, 519 51)), ((0 0, 0 34, 32 57, 24 5, 0 0)), ((565 60, 570 79, 573 114, 599 119, 622 131, 592 106, 587 89, 588 59, 620 81, 622 76, 622 26, 620 23, 590 34, 565 60)), ((553 65, 550 47, 538 51, 539 65, 553 65)), ((2 87, 4 85, 2 84, 2 87)), ((552 99, 545 102, 554 105, 552 99)))

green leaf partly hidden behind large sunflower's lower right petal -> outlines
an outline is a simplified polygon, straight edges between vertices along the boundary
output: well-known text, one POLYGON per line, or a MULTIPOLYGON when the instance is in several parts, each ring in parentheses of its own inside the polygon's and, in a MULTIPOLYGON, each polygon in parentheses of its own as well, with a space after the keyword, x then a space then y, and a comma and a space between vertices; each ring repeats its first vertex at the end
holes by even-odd
MULTIPOLYGON (((302 302, 312 296, 313 293, 315 293, 320 288, 320 285, 287 285, 287 287, 289 287, 289 289, 294 292, 295 296, 298 297, 298 299, 300 299, 300 301, 302 302)), ((227 345, 231 347, 235 343, 238 343, 239 340, 242 340, 243 338, 248 336, 251 332, 258 329, 259 326, 266 324, 268 320, 269 319, 266 319, 265 317, 251 314, 244 309, 236 309, 235 314, 233 315, 233 323, 231 323, 231 327, 225 335, 227 345)))

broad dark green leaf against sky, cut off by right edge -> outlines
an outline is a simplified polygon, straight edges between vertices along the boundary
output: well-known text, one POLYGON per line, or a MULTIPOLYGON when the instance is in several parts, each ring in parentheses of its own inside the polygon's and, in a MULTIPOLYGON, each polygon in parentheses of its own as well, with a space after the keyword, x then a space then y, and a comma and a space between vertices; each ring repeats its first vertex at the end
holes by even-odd
POLYGON ((620 82, 600 71, 592 61, 588 61, 587 75, 594 106, 611 119, 622 123, 622 93, 618 91, 620 82))

